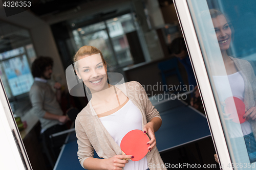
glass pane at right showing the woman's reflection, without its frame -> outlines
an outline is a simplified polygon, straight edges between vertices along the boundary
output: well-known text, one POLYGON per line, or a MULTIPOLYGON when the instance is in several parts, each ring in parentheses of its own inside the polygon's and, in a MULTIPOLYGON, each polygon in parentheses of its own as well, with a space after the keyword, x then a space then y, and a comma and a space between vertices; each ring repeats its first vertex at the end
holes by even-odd
MULTIPOLYGON (((231 160, 238 164, 256 162, 256 2, 187 0, 187 3, 231 160)), ((250 169, 256 169, 255 165, 250 169)))

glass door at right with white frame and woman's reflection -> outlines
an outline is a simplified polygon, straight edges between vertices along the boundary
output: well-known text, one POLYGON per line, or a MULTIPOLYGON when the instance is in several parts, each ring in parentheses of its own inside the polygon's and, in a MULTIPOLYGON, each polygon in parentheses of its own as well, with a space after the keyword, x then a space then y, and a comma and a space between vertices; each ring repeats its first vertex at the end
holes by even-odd
POLYGON ((256 2, 174 4, 220 168, 256 169, 256 2))

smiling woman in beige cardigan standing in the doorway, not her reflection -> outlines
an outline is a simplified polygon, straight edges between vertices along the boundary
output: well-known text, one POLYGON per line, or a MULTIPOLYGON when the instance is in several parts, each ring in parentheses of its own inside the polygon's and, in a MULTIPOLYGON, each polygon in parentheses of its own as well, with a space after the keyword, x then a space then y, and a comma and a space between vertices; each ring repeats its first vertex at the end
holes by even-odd
POLYGON ((92 99, 76 118, 78 159, 87 169, 166 169, 156 148, 155 134, 162 123, 159 112, 148 100, 140 83, 124 83, 126 92, 107 82, 106 62, 93 46, 83 46, 74 57, 75 71, 80 81, 90 89, 92 99), (126 93, 126 94, 125 94, 126 93), (96 113, 96 114, 95 114, 96 113), (134 129, 143 130, 151 140, 148 153, 139 160, 122 155, 122 137, 134 129), (99 157, 93 158, 94 150, 99 157), (151 163, 151 164, 149 164, 151 163))

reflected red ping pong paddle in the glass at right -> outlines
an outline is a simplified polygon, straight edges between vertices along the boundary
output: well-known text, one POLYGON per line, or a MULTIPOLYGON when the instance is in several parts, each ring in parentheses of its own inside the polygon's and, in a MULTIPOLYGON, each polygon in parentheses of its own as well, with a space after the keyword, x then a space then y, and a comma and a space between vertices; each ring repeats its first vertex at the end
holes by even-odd
POLYGON ((229 118, 232 118, 232 121, 237 124, 242 124, 246 121, 245 118, 243 118, 243 115, 245 114, 245 105, 244 102, 236 97, 228 97, 224 103, 226 104, 224 107, 225 113, 230 114, 229 118))

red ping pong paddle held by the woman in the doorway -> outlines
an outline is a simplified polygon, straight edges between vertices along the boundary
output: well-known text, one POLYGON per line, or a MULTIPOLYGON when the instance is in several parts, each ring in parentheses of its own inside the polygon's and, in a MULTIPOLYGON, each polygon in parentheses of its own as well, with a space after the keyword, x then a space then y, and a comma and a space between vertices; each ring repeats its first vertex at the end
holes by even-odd
POLYGON ((141 130, 132 130, 122 138, 121 150, 125 155, 133 155, 133 161, 139 161, 144 158, 148 152, 148 144, 150 138, 147 134, 144 134, 141 130))

